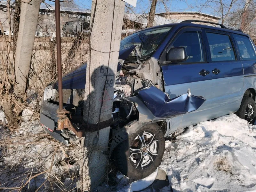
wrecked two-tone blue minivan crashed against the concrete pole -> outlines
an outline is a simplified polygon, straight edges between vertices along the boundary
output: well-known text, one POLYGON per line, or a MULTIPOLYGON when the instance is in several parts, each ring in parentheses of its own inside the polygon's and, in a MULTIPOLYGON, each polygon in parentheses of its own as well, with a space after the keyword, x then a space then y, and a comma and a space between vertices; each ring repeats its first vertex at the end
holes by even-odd
MULTIPOLYGON (((185 127, 230 113, 253 123, 256 53, 240 29, 199 20, 147 28, 121 41, 118 61, 108 150, 132 179, 151 174, 165 137, 185 127)), ((63 76, 63 106, 80 132, 86 66, 63 76)), ((57 129, 58 107, 55 80, 44 91, 41 124, 65 144, 82 137, 57 129)))

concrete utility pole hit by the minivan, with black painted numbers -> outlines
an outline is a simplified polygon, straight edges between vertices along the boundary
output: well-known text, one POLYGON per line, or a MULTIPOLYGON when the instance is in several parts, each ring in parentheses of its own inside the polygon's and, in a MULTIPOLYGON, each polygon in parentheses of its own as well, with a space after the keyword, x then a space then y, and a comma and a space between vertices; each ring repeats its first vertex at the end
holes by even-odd
MULTIPOLYGON (((111 119, 124 4, 121 0, 92 2, 91 53, 87 62, 83 118, 89 124, 87 128, 90 124, 111 119)), ((82 191, 88 191, 104 181, 108 161, 104 152, 108 150, 109 130, 110 127, 106 127, 99 133, 97 130, 86 132, 81 142, 84 150, 80 168, 82 191)))

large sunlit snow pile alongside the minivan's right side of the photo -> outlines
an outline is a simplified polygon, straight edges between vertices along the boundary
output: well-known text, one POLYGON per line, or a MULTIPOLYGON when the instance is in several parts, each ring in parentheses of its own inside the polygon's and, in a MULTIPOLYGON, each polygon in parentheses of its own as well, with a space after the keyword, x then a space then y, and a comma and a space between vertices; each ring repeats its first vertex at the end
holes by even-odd
POLYGON ((160 168, 173 191, 256 190, 256 126, 234 114, 206 121, 166 142, 160 168))

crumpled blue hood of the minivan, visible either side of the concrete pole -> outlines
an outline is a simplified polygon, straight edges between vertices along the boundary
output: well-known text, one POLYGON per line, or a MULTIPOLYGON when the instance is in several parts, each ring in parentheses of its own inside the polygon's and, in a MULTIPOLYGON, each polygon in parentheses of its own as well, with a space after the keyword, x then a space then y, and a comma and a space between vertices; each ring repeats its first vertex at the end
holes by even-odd
MULTIPOLYGON (((119 51, 117 71, 120 71, 123 61, 130 55, 136 46, 119 51), (121 60, 121 62, 120 62, 121 60)), ((87 63, 84 63, 62 76, 62 89, 84 89, 87 63)), ((52 88, 58 89, 58 79, 52 82, 52 88)))

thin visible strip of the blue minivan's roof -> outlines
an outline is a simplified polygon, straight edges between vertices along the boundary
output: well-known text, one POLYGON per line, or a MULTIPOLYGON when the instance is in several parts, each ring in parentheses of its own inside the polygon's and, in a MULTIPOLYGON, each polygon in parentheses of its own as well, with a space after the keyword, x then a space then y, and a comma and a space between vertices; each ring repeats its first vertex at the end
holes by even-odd
MULTIPOLYGON (((190 23, 190 22, 170 23, 170 24, 158 25, 158 26, 154 26, 154 27, 151 27, 151 28, 146 28, 146 29, 143 29, 143 30, 152 29, 152 28, 163 28, 163 27, 169 27, 169 26, 170 27, 171 26, 176 26, 178 28, 181 28, 181 27, 197 27, 197 28, 212 29, 212 30, 218 30, 218 31, 223 31, 223 32, 228 32, 228 33, 236 33, 236 34, 240 34, 240 35, 249 36, 248 34, 243 33, 241 30, 214 27, 214 26, 195 24, 195 23, 190 23)), ((140 31, 143 31, 143 30, 140 30, 140 31)))

